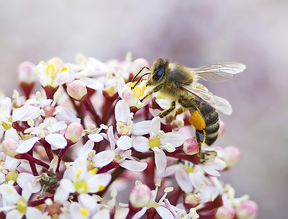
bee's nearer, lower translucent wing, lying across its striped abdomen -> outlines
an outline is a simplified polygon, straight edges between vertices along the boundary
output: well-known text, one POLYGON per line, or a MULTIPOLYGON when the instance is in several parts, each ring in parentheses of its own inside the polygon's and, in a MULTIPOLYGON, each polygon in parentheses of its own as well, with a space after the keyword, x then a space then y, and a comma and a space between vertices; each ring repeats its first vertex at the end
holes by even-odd
POLYGON ((206 104, 212 106, 217 111, 220 111, 221 113, 224 113, 225 115, 231 115, 232 107, 230 103, 228 102, 228 100, 219 96, 215 96, 208 92, 205 92, 201 89, 186 87, 183 85, 181 85, 181 88, 199 97, 201 100, 206 102, 206 104))

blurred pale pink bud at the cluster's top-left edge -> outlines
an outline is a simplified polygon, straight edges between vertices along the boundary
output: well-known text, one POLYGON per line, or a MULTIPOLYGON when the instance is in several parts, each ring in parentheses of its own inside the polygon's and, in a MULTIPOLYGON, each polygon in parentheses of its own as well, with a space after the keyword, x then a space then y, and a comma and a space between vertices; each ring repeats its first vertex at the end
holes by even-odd
POLYGON ((18 82, 19 83, 24 82, 27 84, 35 82, 36 79, 34 76, 34 69, 35 69, 35 64, 31 62, 20 63, 17 68, 18 82))

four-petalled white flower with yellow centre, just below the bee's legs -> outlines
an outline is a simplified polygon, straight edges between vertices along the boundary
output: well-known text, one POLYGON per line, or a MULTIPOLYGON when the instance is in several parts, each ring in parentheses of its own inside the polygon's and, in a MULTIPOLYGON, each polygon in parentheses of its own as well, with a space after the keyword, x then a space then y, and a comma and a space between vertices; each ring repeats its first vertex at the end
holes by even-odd
POLYGON ((160 130, 160 117, 154 117, 150 124, 150 138, 144 136, 137 136, 132 139, 132 146, 136 151, 146 152, 150 148, 154 151, 155 164, 159 172, 166 170, 167 159, 163 151, 175 151, 185 141, 184 136, 177 132, 164 133, 160 130))

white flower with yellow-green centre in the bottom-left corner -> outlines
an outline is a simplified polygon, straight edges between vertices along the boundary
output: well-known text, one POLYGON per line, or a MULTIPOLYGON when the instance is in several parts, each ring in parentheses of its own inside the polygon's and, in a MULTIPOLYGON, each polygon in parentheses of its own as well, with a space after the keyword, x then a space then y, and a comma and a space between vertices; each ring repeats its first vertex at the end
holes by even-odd
POLYGON ((14 186, 9 184, 0 185, 0 193, 7 205, 2 207, 1 211, 9 211, 6 218, 20 219, 24 215, 27 219, 43 218, 42 212, 36 207, 27 206, 27 201, 31 196, 31 185, 27 184, 22 190, 22 196, 19 195, 14 186))

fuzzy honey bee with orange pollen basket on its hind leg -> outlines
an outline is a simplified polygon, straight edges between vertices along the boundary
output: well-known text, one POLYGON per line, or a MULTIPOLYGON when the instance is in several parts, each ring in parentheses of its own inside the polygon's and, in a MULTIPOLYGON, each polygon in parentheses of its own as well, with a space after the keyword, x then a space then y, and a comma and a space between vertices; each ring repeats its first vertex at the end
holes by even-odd
MULTIPOLYGON (((177 62, 171 62, 169 59, 158 58, 148 69, 150 73, 146 81, 146 87, 153 86, 140 101, 142 102, 154 92, 159 92, 162 96, 166 96, 172 100, 170 107, 159 113, 159 117, 163 118, 171 113, 176 104, 179 105, 175 113, 178 114, 190 111, 190 122, 195 127, 195 137, 199 146, 199 154, 201 145, 213 144, 219 134, 219 117, 218 111, 226 115, 232 113, 230 103, 219 96, 215 96, 208 89, 198 83, 198 79, 202 78, 206 81, 227 81, 234 74, 242 72, 246 67, 243 64, 235 62, 226 62, 201 66, 197 68, 189 68, 177 62)), ((134 79, 139 75, 134 77, 134 79)), ((142 75, 134 87, 141 81, 142 75)), ((134 81, 134 79, 132 81, 134 81)))

